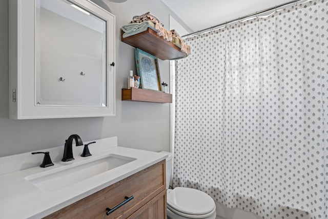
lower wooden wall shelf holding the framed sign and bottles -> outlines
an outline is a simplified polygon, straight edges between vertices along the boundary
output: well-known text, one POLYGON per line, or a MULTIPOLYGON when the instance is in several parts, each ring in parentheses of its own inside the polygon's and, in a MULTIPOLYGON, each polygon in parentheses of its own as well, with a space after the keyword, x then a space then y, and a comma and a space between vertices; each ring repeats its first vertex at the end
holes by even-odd
POLYGON ((172 94, 139 88, 122 88, 122 101, 141 101, 153 103, 172 103, 172 94))

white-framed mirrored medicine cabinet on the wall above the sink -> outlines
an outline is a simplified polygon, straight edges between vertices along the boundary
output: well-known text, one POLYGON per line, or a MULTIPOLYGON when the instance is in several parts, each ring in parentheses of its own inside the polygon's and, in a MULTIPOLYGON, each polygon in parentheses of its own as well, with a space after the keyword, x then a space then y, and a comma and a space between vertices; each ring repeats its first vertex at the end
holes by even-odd
POLYGON ((14 0, 9 13, 10 118, 115 115, 114 15, 88 0, 14 0))

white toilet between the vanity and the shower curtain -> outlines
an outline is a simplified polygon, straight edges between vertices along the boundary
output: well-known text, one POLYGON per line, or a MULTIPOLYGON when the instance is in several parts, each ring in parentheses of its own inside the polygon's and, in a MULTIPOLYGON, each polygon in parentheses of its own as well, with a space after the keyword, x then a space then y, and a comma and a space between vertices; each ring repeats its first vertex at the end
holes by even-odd
POLYGON ((167 212, 168 219, 215 219, 216 209, 212 197, 197 189, 176 187, 169 189, 172 153, 161 151, 168 154, 166 158, 166 188, 167 188, 167 212))

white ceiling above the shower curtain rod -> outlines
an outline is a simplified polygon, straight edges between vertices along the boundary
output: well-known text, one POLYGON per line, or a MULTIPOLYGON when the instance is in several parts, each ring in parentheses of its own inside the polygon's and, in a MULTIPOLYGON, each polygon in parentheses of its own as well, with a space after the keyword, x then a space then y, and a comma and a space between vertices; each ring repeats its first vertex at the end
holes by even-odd
POLYGON ((161 0, 194 32, 291 0, 161 0))

